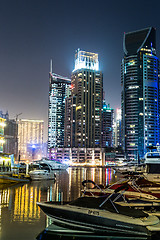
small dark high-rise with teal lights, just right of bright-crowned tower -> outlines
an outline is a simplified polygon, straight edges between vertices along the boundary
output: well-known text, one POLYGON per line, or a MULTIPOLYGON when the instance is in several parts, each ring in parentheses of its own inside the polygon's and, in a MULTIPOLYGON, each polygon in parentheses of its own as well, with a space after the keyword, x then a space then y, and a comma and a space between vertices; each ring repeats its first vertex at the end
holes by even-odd
POLYGON ((102 146, 113 147, 114 110, 103 102, 102 110, 102 146))

